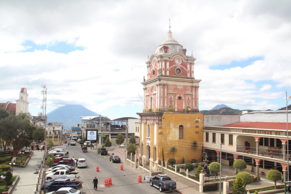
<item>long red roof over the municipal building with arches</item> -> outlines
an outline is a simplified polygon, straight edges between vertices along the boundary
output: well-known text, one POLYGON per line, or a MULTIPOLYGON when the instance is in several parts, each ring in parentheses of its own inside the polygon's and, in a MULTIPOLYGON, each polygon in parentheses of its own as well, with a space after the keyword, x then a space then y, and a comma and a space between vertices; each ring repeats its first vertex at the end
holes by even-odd
MULTIPOLYGON (((286 122, 237 122, 226 124, 221 127, 239 127, 239 128, 255 128, 255 129, 287 129, 286 122)), ((291 123, 288 122, 288 129, 291 130, 291 123)))

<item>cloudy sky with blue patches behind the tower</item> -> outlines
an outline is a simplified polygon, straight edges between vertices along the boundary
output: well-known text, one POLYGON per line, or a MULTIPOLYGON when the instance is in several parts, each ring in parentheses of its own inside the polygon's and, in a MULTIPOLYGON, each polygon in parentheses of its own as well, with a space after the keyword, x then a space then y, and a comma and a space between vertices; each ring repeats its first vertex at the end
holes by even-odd
MULTIPOLYGON (((291 1, 0 1, 0 102, 22 87, 29 112, 80 104, 137 116, 148 55, 169 18, 194 76, 199 109, 276 110, 291 95, 291 1)), ((289 103, 290 104, 290 103, 289 103)))

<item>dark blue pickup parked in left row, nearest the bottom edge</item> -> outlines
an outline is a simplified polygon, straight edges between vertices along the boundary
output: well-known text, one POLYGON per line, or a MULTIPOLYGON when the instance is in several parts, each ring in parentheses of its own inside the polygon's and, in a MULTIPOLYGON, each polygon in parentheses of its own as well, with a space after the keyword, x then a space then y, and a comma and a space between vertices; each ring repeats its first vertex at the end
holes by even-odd
POLYGON ((58 189, 63 188, 63 187, 71 187, 76 190, 79 190, 82 188, 82 183, 72 182, 70 181, 70 179, 58 179, 56 181, 43 184, 41 187, 42 191, 44 190, 44 187, 45 187, 45 193, 48 193, 50 191, 58 191, 58 189))

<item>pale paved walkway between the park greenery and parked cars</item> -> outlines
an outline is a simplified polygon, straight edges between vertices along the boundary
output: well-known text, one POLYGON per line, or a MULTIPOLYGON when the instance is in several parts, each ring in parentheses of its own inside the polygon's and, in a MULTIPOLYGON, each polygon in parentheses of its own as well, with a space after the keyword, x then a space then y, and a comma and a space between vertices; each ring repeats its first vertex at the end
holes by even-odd
POLYGON ((13 168, 13 175, 19 175, 19 179, 11 192, 12 194, 34 193, 38 174, 33 173, 36 172, 36 164, 38 161, 41 161, 43 153, 44 151, 34 150, 25 168, 13 168))

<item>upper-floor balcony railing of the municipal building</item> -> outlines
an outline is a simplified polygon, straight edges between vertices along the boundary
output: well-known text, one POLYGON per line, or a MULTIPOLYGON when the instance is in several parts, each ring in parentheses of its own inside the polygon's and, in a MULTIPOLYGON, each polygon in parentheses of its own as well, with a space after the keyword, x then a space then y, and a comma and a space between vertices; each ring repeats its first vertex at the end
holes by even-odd
POLYGON ((237 152, 246 154, 260 155, 270 158, 276 158, 283 160, 283 149, 281 147, 269 146, 268 148, 259 148, 257 154, 257 148, 247 147, 244 145, 237 145, 237 152))

